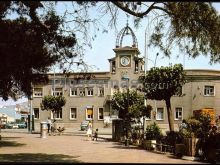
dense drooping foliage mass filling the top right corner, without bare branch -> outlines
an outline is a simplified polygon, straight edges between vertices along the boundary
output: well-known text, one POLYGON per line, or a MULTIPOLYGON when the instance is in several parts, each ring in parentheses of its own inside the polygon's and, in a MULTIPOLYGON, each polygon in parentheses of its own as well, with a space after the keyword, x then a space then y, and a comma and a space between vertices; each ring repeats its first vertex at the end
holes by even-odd
POLYGON ((169 41, 176 41, 192 57, 210 53, 211 62, 219 61, 220 17, 210 3, 170 2, 164 8, 170 13, 169 41), (184 39, 189 44, 184 45, 184 39))

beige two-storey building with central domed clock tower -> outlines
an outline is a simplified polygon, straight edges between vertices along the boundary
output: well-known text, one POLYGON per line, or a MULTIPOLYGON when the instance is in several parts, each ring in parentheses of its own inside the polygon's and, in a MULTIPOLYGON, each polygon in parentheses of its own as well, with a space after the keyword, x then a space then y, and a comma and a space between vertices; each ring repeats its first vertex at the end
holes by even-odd
MULTIPOLYGON (((127 86, 130 90, 140 87, 138 78, 144 74, 144 59, 140 57, 137 39, 128 25, 120 31, 113 51, 115 54, 109 59, 109 72, 48 74, 49 84, 34 85, 31 107, 35 130, 40 130, 40 122, 48 117, 66 128, 80 128, 84 120, 92 120, 93 126, 100 128, 117 118, 117 111, 111 108, 111 98, 114 92, 126 90, 127 86), (133 39, 131 46, 122 46, 126 34, 133 39), (54 114, 42 111, 40 103, 46 95, 63 95, 66 105, 62 111, 54 114)), ((176 129, 183 118, 193 114, 193 110, 213 108, 216 117, 220 115, 220 71, 186 70, 186 74, 183 95, 171 99, 176 129)), ((146 123, 156 121, 163 130, 167 130, 165 102, 147 100, 147 104, 152 105, 153 111, 146 123)))

